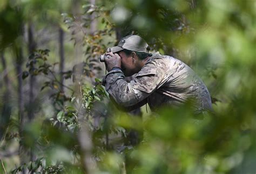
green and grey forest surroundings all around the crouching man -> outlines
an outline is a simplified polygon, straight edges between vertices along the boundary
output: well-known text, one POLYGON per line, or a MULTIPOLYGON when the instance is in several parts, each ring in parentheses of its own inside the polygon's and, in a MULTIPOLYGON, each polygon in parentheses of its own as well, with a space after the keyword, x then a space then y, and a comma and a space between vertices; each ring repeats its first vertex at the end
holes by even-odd
POLYGON ((255 0, 1 0, 0 173, 255 173, 255 0), (190 66, 214 113, 111 104, 129 34, 190 66))

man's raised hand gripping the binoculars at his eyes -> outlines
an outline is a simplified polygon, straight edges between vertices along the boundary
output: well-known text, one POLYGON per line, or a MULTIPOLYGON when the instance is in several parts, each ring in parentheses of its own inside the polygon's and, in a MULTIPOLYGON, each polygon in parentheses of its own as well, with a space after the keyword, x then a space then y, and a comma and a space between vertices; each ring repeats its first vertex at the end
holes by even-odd
POLYGON ((106 53, 105 66, 107 71, 110 71, 113 67, 121 68, 121 57, 117 53, 106 53))

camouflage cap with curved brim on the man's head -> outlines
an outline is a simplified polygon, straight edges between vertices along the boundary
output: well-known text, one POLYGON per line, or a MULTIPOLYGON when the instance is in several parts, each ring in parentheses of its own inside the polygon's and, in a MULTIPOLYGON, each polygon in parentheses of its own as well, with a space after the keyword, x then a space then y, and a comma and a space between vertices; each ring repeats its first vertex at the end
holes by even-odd
POLYGON ((123 39, 120 40, 118 46, 110 48, 111 52, 116 53, 120 52, 120 50, 128 49, 134 52, 144 52, 147 53, 147 42, 138 35, 127 35, 123 39))

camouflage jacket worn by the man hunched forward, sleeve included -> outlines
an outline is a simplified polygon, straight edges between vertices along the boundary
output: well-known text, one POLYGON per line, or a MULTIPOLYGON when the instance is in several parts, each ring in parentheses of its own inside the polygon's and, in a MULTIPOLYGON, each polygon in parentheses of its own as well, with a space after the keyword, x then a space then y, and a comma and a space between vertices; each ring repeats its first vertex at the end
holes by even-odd
POLYGON ((171 56, 153 54, 128 83, 120 69, 103 78, 106 91, 118 105, 133 110, 148 103, 152 111, 159 106, 176 106, 194 99, 196 110, 211 110, 210 94, 201 79, 184 62, 171 56))

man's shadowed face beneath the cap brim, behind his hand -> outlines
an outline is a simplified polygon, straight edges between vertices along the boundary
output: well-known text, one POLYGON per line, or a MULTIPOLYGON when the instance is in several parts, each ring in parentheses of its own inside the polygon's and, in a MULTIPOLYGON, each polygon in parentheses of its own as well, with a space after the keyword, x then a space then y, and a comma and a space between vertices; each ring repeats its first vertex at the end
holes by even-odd
POLYGON ((121 57, 121 69, 126 77, 132 76, 136 71, 136 64, 132 56, 127 56, 124 52, 118 52, 119 56, 121 57))

